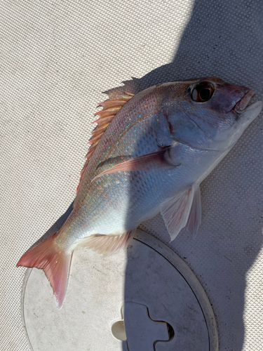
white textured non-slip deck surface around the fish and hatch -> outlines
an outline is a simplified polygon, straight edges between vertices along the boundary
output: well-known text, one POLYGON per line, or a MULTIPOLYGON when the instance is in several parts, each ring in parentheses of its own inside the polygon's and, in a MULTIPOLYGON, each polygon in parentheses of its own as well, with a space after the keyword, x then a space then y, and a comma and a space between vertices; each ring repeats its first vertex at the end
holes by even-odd
MULTIPOLYGON (((29 350, 15 264, 74 200, 103 92, 214 75, 262 100, 262 23, 260 0, 0 2, 0 350, 29 350)), ((197 239, 169 244, 213 305, 220 351, 262 351, 262 130, 261 114, 203 182, 197 239)), ((142 228, 168 243, 160 216, 142 228)))

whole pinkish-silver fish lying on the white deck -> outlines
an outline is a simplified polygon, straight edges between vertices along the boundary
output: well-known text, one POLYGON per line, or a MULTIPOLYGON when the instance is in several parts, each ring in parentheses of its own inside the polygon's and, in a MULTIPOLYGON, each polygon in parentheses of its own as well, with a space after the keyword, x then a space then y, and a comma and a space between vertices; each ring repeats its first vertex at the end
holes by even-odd
POLYGON ((262 110, 254 91, 217 77, 173 81, 100 103, 72 212, 17 266, 42 269, 60 309, 72 253, 125 249, 161 213, 170 239, 201 225, 200 184, 262 110))

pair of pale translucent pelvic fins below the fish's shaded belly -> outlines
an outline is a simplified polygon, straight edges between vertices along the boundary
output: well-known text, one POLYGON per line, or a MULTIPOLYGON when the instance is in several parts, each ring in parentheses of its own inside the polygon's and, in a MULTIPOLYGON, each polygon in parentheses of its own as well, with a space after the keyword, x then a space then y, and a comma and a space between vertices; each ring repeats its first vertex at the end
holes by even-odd
POLYGON ((189 231, 196 234, 201 223, 201 199, 200 190, 198 189, 199 187, 192 185, 161 206, 161 215, 170 234, 171 241, 177 237, 177 234, 185 225, 187 225, 189 231))

